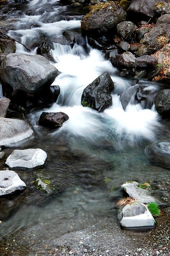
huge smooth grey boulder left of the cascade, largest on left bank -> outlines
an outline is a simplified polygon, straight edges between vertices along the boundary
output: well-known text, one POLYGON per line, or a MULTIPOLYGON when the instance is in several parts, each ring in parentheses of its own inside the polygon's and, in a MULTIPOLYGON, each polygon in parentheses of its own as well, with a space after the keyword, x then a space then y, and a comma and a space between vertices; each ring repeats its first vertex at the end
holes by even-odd
POLYGON ((41 55, 10 53, 0 66, 3 94, 24 107, 38 105, 57 75, 58 70, 41 55))

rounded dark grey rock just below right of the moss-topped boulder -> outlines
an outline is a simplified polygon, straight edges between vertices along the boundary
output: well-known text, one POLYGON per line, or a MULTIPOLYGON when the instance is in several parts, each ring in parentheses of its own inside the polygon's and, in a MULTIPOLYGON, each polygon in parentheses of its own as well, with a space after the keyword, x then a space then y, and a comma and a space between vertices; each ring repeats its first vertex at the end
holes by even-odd
POLYGON ((131 42, 135 35, 135 24, 131 21, 122 21, 117 25, 117 31, 125 41, 131 42))

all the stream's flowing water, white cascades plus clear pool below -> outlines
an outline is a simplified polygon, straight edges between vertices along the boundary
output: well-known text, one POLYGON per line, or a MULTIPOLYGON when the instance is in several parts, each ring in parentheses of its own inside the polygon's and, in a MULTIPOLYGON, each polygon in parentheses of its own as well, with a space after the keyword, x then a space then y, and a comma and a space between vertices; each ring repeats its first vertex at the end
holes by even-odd
MULTIPOLYGON (((15 22, 8 33, 32 49, 30 53, 17 44, 17 53, 36 54, 43 37, 53 41, 51 53, 56 63, 52 64, 60 71, 53 85, 59 85, 61 93, 51 107, 29 113, 27 118, 36 135, 16 146, 47 152, 46 166, 38 171, 55 184, 54 195, 46 196, 35 189, 32 172, 17 171, 27 189, 1 200, 0 219, 4 222, 0 237, 21 227, 34 229, 36 224, 34 233, 38 237, 43 233, 41 242, 45 243, 49 231, 51 236, 60 236, 93 224, 106 214, 117 222, 115 204, 122 197, 120 186, 124 181, 143 183, 169 178, 169 171, 150 165, 144 155, 149 143, 169 137, 153 104, 162 85, 140 81, 150 94, 147 100, 138 103, 134 81, 118 76, 118 70, 103 53, 91 48, 81 35, 81 9, 70 9, 56 0, 10 5, 16 9, 10 14, 15 22), (74 47, 55 42, 63 31, 75 34, 74 47), (81 95, 104 71, 109 72, 115 87, 112 106, 98 113, 81 105, 81 95), (49 131, 37 123, 42 111, 62 111, 69 120, 58 130, 49 131)), ((6 148, 6 155, 13 150, 6 148)), ((0 169, 4 168, 2 164, 1 161, 0 169)))

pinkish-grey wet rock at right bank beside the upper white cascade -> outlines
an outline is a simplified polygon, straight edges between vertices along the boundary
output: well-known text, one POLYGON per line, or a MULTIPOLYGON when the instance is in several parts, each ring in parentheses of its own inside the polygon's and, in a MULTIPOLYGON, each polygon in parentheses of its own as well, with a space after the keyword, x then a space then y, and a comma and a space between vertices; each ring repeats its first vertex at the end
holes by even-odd
POLYGON ((135 59, 136 57, 132 52, 124 52, 120 55, 115 55, 110 61, 113 66, 118 68, 132 68, 135 67, 135 59))

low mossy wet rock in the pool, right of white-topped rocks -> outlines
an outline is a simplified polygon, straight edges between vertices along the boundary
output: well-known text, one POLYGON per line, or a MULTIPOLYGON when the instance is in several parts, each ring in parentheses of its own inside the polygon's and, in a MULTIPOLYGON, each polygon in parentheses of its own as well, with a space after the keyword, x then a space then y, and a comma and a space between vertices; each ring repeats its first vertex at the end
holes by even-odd
POLYGON ((51 183, 48 177, 43 176, 41 173, 34 172, 33 177, 35 178, 35 188, 40 191, 51 194, 55 190, 55 185, 51 183))

